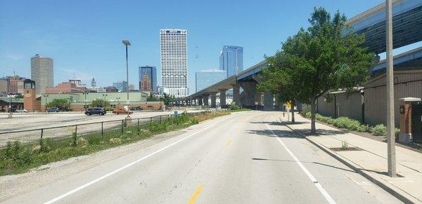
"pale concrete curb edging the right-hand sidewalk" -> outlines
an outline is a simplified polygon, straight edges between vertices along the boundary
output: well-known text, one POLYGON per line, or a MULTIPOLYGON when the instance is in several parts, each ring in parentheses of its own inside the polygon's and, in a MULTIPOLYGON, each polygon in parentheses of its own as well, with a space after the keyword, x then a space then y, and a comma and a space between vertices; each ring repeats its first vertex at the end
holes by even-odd
POLYGON ((414 196, 411 196, 409 193, 402 191, 402 189, 398 189, 396 186, 393 186, 392 184, 388 184, 388 182, 385 182, 381 178, 374 177, 373 175, 371 175, 371 173, 366 172, 365 170, 362 170, 361 166, 357 165, 356 163, 353 163, 352 161, 349 161, 347 158, 341 156, 340 154, 335 153, 335 151, 328 149, 323 144, 316 142, 315 140, 312 140, 306 135, 303 135, 301 132, 294 130, 285 122, 281 121, 281 123, 283 123, 283 125, 286 125, 286 127, 288 127, 290 130, 292 130, 296 134, 304 137, 307 141, 311 142, 322 151, 326 152, 326 154, 329 154, 330 156, 337 159, 341 163, 347 165, 349 168, 351 168, 355 172, 358 172, 360 175, 364 176, 366 179, 369 179, 369 181, 373 182, 373 184, 380 186, 381 189, 384 189, 385 191, 390 193, 392 196, 395 196, 399 200, 402 200, 404 203, 421 203, 421 200, 418 200, 414 196))

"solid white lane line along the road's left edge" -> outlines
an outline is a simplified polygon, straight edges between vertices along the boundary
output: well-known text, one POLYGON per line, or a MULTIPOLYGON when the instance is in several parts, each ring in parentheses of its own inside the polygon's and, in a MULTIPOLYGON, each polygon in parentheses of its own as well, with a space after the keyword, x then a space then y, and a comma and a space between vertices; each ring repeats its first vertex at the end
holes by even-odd
POLYGON ((53 198, 53 199, 51 199, 49 201, 46 201, 45 204, 54 203, 54 202, 56 202, 58 200, 61 200, 61 199, 65 198, 66 196, 70 196, 70 195, 72 195, 73 193, 75 193, 77 191, 80 191, 80 190, 82 190, 82 189, 84 189, 84 188, 86 188, 88 186, 91 186, 92 184, 95 184, 96 182, 101 181, 102 179, 105 179, 106 177, 110 177, 111 175, 114 175, 115 173, 120 172, 121 170, 124 170, 125 168, 129 168, 130 166, 132 166, 132 165, 134 165, 136 163, 139 163, 140 161, 143 161, 143 160, 145 160, 148 157, 154 156, 155 154, 158 154, 160 151, 164 151, 165 149, 168 149, 169 147, 174 146, 174 144, 177 144, 177 143, 179 143, 181 141, 184 141, 184 140, 188 139, 189 137, 192 137, 193 135, 198 134, 199 132, 203 132, 204 130, 207 130, 208 128, 211 128, 213 125, 215 125, 215 124, 217 124, 217 123, 219 123, 221 121, 223 121, 223 120, 217 121, 217 122, 213 123, 212 125, 208 126, 207 128, 203 128, 202 130, 199 130, 198 132, 195 132, 195 133, 193 133, 191 135, 188 135, 188 136, 182 138, 181 140, 178 140, 177 142, 174 142, 172 144, 169 144, 166 147, 162 147, 161 149, 158 149, 157 151, 154 151, 153 153, 148 154, 147 156, 144 156, 143 158, 139 158, 138 160, 136 160, 136 161, 134 161, 132 163, 129 163, 128 165, 124 165, 122 168, 119 168, 117 170, 114 170, 113 172, 110 172, 110 173, 108 173, 106 175, 103 175, 102 177, 99 177, 98 179, 95 179, 95 180, 93 180, 91 182, 88 182, 87 184, 84 184, 82 186, 79 186, 76 189, 73 189, 72 191, 68 191, 67 193, 62 194, 61 196, 58 196, 58 197, 53 198))

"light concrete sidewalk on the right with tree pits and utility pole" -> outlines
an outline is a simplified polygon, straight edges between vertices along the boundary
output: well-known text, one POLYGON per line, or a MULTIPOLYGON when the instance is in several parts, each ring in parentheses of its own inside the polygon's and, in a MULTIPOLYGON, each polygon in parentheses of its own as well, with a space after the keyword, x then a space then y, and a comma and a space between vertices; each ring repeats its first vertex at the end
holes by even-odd
MULTIPOLYGON (((279 118, 287 121, 287 114, 285 117, 280 114, 279 118)), ((405 203, 422 203, 422 154, 396 146, 399 177, 391 178, 387 176, 387 143, 354 135, 321 123, 316 123, 316 132, 319 135, 309 135, 311 121, 300 114, 295 114, 295 121, 295 124, 285 124, 405 203), (347 142, 348 147, 357 147, 361 150, 333 151, 330 149, 341 147, 342 141, 347 142)))

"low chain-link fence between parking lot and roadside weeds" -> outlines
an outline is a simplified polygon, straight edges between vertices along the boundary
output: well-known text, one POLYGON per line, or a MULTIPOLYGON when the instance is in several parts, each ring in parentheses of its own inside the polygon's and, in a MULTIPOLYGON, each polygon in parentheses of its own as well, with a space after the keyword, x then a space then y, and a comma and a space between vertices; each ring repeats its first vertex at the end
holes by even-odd
MULTIPOLYGON (((198 115, 204 112, 187 113, 188 115, 198 115)), ((63 125, 49 128, 37 128, 31 130, 15 130, 8 132, 0 132, 0 148, 6 147, 7 143, 13 141, 20 141, 21 144, 31 144, 38 142, 39 139, 50 138, 51 140, 60 140, 67 137, 72 137, 73 134, 79 137, 82 135, 101 132, 101 136, 105 131, 115 130, 116 134, 123 133, 124 128, 128 126, 143 125, 153 123, 154 121, 162 121, 167 118, 172 118, 173 115, 152 116, 147 118, 131 118, 129 120, 114 120, 101 121, 93 123, 78 123, 75 125, 63 125)))

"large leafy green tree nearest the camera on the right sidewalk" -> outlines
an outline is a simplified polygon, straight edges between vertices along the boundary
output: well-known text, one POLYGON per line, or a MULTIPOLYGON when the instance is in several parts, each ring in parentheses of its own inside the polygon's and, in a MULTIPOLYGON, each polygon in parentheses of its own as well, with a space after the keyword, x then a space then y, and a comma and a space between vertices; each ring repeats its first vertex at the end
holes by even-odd
POLYGON ((363 46, 364 35, 353 34, 345 26, 345 15, 336 12, 331 18, 324 8, 314 8, 311 27, 282 43, 281 70, 298 92, 295 97, 312 107, 311 132, 315 129, 315 102, 326 93, 343 89, 347 93, 369 78, 374 53, 363 46))

